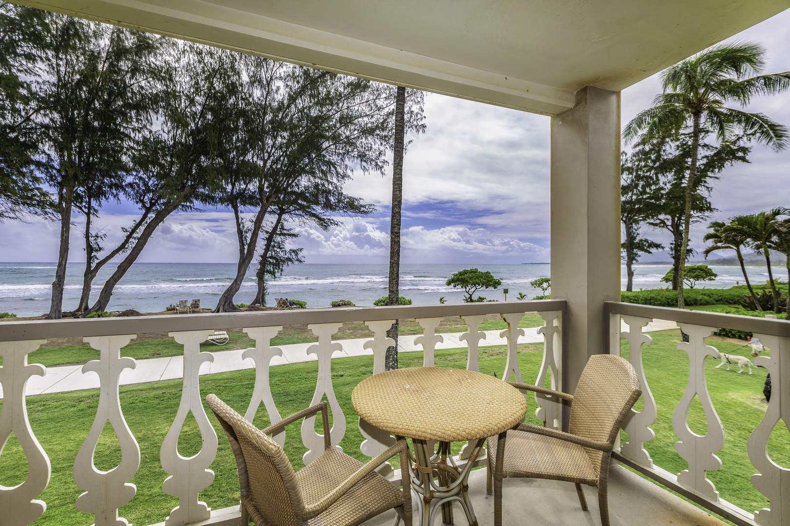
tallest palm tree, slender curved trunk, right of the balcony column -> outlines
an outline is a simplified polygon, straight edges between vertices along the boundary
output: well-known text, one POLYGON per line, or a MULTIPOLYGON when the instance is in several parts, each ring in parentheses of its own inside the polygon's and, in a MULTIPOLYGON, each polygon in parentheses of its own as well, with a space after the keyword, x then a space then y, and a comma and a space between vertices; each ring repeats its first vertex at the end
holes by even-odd
POLYGON ((759 75, 765 65, 766 50, 756 43, 720 44, 702 51, 661 73, 664 92, 653 106, 641 111, 624 130, 626 140, 640 132, 647 140, 677 136, 691 126, 691 157, 685 186, 683 241, 678 271, 678 307, 683 308, 683 272, 691 223, 691 203, 697 178, 700 136, 705 129, 720 141, 743 133, 752 140, 781 150, 788 131, 764 114, 750 114, 725 106, 746 106, 755 95, 773 95, 790 88, 790 72, 759 75), (754 75, 754 76, 751 76, 754 75))

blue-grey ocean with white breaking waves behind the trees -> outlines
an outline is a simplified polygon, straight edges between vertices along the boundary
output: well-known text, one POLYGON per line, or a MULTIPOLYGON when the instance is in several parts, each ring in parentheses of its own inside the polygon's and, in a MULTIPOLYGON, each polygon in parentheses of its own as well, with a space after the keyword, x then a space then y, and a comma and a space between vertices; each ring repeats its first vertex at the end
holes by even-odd
MULTIPOLYGON (((416 305, 438 304, 439 297, 448 303, 459 303, 461 289, 445 285, 451 274, 469 264, 411 264, 401 265, 401 295, 416 305)), ((508 300, 515 300, 518 293, 536 296, 540 290, 532 289, 529 282, 549 275, 548 264, 478 265, 502 280, 502 287, 481 290, 478 294, 490 300, 504 300, 502 289, 509 289, 508 300)), ((660 278, 667 265, 638 265, 635 268, 634 290, 653 289, 666 284, 660 278)), ((712 267, 719 277, 715 282, 699 287, 726 288, 743 282, 739 267, 712 267)), ((66 290, 63 309, 77 307, 81 294, 81 264, 69 265, 66 273, 66 290)), ((114 268, 105 268, 96 278, 94 299, 114 268)), ((747 267, 754 282, 768 279, 765 267, 747 267)), ((387 293, 388 267, 384 264, 302 264, 288 267, 281 278, 269 284, 269 304, 273 298, 307 301, 310 308, 329 307, 333 300, 352 300, 357 305, 372 305, 374 300, 387 293)), ((623 289, 626 286, 625 267, 623 289)), ((779 278, 786 278, 782 269, 776 269, 779 278)), ((201 300, 204 308, 214 308, 216 301, 235 275, 232 263, 135 263, 115 287, 107 310, 134 309, 141 312, 164 311, 169 304, 179 300, 201 300)), ((55 263, 0 263, 0 312, 13 312, 18 316, 43 315, 49 310, 51 283, 55 278, 55 263)), ((254 271, 250 271, 235 297, 236 303, 250 303, 256 292, 254 271)), ((477 296, 477 294, 476 294, 477 296)))

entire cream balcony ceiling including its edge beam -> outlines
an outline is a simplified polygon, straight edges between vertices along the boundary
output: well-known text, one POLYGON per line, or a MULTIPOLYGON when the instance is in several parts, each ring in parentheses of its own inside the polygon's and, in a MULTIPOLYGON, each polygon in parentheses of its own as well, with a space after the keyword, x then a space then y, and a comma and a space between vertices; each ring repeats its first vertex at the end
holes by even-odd
POLYGON ((93 20, 540 114, 613 91, 788 0, 39 0, 93 20))

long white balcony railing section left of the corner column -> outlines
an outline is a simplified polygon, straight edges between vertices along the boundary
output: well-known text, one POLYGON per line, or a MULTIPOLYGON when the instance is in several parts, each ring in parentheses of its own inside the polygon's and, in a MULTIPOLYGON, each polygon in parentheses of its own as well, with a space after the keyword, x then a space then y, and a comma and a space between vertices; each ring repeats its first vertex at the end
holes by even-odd
MULTIPOLYGON (((170 337, 183 345, 183 388, 178 412, 161 444, 160 461, 170 476, 164 479, 162 491, 179 498, 179 505, 168 517, 162 517, 165 526, 181 524, 238 524, 239 506, 226 509, 209 509, 198 498, 200 491, 213 483, 214 474, 209 466, 216 457, 218 438, 206 416, 200 394, 201 364, 213 361, 213 354, 201 352, 200 344, 215 330, 243 328, 255 341, 255 347, 247 349, 244 357, 254 360, 255 382, 250 393, 246 418, 252 420, 262 404, 272 422, 280 420, 271 386, 269 365, 280 349, 270 345, 283 326, 307 324, 317 336, 318 342, 308 349, 318 357, 318 382, 314 390, 313 403, 326 397, 333 413, 331 441, 337 445, 343 438, 351 416, 344 415, 333 390, 331 374, 333 352, 341 350, 333 334, 344 322, 364 322, 371 330, 371 340, 365 344, 374 355, 374 373, 384 370, 386 349, 393 341, 386 338, 386 330, 395 319, 416 319, 423 328, 423 335, 416 344, 423 347, 423 366, 434 364, 435 345, 442 337, 435 328, 443 317, 460 316, 468 326, 461 335, 468 347, 467 368, 477 370, 478 344, 485 334, 478 330, 485 315, 501 315, 507 330, 502 337, 507 341, 506 367, 503 378, 514 377, 523 382, 517 360, 517 340, 523 330, 517 323, 526 312, 538 311, 545 320, 540 329, 544 335, 544 358, 540 373, 535 381, 540 385, 550 382, 554 389, 562 389, 562 318, 566 304, 561 300, 535 302, 507 302, 463 305, 438 305, 432 307, 380 307, 322 309, 305 311, 245 312, 221 315, 145 316, 139 318, 83 319, 61 321, 33 321, 0 323, 0 386, 2 386, 2 412, 0 412, 0 455, 2 446, 13 433, 27 459, 28 476, 14 487, 0 485, 0 524, 23 526, 41 517, 46 503, 38 500, 47 487, 51 476, 51 465, 47 451, 40 445, 28 423, 25 403, 25 385, 33 375, 44 375, 45 368, 39 364, 28 364, 28 354, 39 348, 48 338, 84 338, 94 349, 100 350, 100 359, 92 360, 82 367, 83 371, 94 371, 100 379, 100 400, 96 417, 79 453, 73 461, 73 480, 85 493, 77 498, 76 508, 95 516, 95 524, 126 524, 119 519, 118 509, 135 498, 136 488, 130 480, 140 464, 140 448, 126 425, 119 384, 121 373, 135 367, 135 360, 122 357, 123 348, 136 334, 167 331, 170 337), (192 457, 182 457, 178 452, 178 440, 186 416, 192 412, 201 434, 201 450, 192 457), (101 471, 93 464, 93 454, 107 422, 111 423, 119 439, 122 460, 117 467, 101 471)), ((556 427, 562 421, 561 408, 546 397, 536 397, 540 420, 556 427)), ((356 419, 352 420, 356 425, 356 419)), ((360 432, 365 440, 361 451, 368 457, 382 453, 393 442, 393 438, 378 429, 360 423, 360 432)), ((323 437, 315 431, 311 419, 304 421, 301 430, 303 445, 307 448, 305 463, 310 462, 323 446, 323 437)), ((280 444, 284 437, 276 437, 280 444)), ((461 450, 458 461, 468 458, 461 450)), ((476 464, 485 461, 484 455, 476 464)), ((396 477, 389 466, 383 473, 396 477)))

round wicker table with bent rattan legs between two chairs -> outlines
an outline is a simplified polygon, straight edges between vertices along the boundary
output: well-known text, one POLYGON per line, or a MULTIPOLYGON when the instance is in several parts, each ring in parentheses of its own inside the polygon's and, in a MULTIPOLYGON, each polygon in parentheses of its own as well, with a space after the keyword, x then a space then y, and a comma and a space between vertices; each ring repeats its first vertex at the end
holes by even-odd
POLYGON ((371 425, 412 438, 414 456, 408 468, 412 489, 420 497, 416 501, 421 526, 433 524, 440 506, 442 521, 453 524, 453 501, 461 503, 469 524, 477 526, 468 497, 472 462, 487 437, 501 435, 504 440, 505 432, 524 420, 527 403, 518 390, 475 371, 416 367, 364 379, 351 401, 371 425), (450 453, 450 442, 459 441, 472 445, 463 468, 450 453), (433 442, 438 442, 438 449, 433 442))

